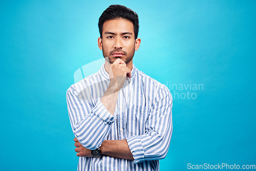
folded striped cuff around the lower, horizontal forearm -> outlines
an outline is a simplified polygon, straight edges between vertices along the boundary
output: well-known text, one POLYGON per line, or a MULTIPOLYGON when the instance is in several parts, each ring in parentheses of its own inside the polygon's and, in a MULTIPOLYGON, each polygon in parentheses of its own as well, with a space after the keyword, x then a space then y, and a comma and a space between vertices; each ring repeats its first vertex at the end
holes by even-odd
POLYGON ((145 152, 141 143, 140 136, 126 138, 131 153, 133 154, 134 164, 144 161, 145 152))

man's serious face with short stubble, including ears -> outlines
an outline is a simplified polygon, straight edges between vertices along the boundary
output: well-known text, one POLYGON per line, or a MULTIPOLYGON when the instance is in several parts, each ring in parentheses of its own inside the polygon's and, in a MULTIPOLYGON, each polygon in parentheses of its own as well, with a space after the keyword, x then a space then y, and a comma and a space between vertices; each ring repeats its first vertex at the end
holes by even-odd
POLYGON ((139 49, 138 39, 135 40, 132 22, 123 18, 111 19, 103 24, 102 39, 98 38, 98 46, 110 63, 120 58, 127 64, 132 62, 135 50, 139 49))

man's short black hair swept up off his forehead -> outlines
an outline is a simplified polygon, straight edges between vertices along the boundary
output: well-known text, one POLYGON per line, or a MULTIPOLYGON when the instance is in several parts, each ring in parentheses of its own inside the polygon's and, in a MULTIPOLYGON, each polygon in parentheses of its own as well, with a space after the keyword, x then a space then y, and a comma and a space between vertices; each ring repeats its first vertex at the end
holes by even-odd
POLYGON ((99 17, 99 33, 102 38, 103 24, 106 20, 124 18, 133 23, 135 39, 138 37, 139 32, 139 17, 136 12, 123 5, 111 5, 99 17))

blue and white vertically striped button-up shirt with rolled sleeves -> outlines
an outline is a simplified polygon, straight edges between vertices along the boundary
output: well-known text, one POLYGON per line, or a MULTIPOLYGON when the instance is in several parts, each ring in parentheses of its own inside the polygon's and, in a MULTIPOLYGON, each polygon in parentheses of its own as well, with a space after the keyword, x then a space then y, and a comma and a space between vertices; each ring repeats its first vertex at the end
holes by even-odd
POLYGON ((126 139, 134 161, 79 157, 78 170, 159 170, 159 159, 166 156, 172 136, 172 95, 133 65, 131 78, 119 91, 113 116, 100 101, 109 84, 103 64, 97 73, 67 90, 72 130, 88 149, 98 148, 104 140, 126 139))

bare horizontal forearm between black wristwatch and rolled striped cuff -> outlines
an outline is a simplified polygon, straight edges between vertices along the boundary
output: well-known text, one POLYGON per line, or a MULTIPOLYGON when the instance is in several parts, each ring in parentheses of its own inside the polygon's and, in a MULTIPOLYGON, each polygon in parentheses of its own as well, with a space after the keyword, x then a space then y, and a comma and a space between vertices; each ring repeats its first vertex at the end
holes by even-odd
POLYGON ((105 140, 100 146, 101 155, 110 156, 126 160, 134 160, 127 141, 105 140))

